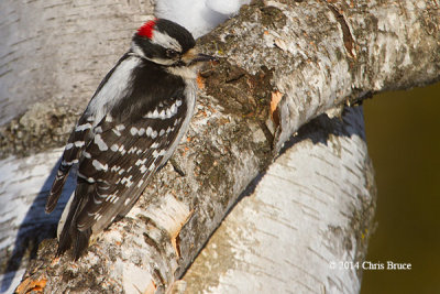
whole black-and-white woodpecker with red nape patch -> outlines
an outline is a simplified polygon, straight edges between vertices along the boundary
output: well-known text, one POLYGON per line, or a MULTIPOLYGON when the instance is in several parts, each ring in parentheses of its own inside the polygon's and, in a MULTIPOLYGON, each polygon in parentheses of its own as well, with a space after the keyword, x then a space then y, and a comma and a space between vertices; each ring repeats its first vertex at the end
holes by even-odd
POLYGON ((183 26, 148 21, 99 85, 68 139, 46 203, 51 213, 78 164, 57 254, 73 247, 77 259, 92 233, 131 209, 177 148, 196 104, 196 64, 212 59, 194 46, 183 26))

